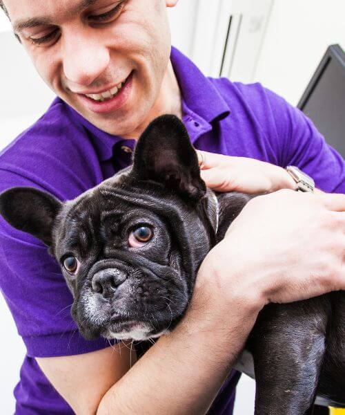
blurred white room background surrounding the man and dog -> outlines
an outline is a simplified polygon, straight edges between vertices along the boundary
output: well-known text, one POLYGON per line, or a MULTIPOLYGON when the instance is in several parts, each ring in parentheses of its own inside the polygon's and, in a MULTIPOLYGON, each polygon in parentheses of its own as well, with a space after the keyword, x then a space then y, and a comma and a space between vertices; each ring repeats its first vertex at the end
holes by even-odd
MULTIPOLYGON (((345 48, 344 0, 179 0, 168 10, 172 44, 206 75, 261 82, 297 105, 326 48, 345 48)), ((39 118, 54 98, 0 12, 0 150, 39 118)), ((25 348, 0 295, 1 413, 14 412, 12 390, 25 348)), ((235 415, 253 414, 255 385, 242 376, 235 415)))

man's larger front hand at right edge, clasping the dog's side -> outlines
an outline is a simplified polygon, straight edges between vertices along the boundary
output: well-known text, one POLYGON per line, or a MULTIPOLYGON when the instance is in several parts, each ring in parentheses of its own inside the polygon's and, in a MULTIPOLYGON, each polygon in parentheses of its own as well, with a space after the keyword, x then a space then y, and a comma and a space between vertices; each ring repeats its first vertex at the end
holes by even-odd
POLYGON ((345 195, 280 190, 251 200, 208 253, 195 301, 226 320, 236 298, 259 310, 345 290, 344 261, 345 195))

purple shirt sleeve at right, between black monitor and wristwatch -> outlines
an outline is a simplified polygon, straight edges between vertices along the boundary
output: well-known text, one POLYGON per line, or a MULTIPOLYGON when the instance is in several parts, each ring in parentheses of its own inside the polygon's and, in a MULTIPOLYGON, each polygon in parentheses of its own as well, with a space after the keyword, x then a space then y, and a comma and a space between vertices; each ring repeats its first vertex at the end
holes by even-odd
POLYGON ((266 90, 275 120, 277 151, 283 165, 296 165, 326 192, 345 193, 345 163, 327 144, 313 122, 299 109, 275 93, 266 90))

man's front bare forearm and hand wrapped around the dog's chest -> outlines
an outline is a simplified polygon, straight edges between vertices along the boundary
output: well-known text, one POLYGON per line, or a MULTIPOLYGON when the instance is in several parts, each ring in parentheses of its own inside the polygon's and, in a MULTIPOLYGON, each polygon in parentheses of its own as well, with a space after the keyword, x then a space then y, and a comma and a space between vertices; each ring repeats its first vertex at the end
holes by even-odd
MULTIPOLYGON (((91 407, 101 415, 206 413, 265 304, 345 289, 344 234, 345 195, 284 190, 250 201, 201 264, 184 319, 91 407)), ((89 378, 82 359, 77 376, 70 367, 77 407, 79 382, 89 378)))

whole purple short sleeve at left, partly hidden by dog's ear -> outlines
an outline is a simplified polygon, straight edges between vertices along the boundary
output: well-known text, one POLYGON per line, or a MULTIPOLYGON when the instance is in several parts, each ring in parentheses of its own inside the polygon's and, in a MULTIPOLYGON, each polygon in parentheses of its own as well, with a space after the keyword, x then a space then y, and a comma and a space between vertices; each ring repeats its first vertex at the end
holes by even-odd
MULTIPOLYGON (((95 149, 62 112, 50 110, 0 154, 0 192, 46 190, 65 201, 102 180, 95 149)), ((48 248, 0 216, 0 288, 30 357, 68 356, 114 342, 85 340, 70 315, 72 294, 48 248)))

